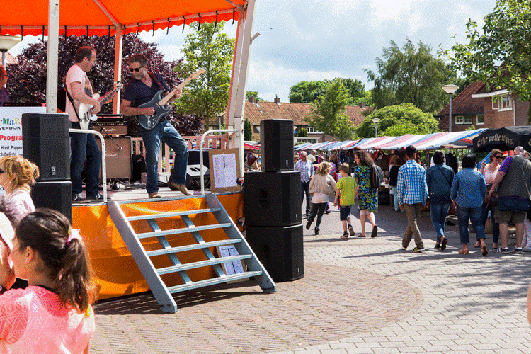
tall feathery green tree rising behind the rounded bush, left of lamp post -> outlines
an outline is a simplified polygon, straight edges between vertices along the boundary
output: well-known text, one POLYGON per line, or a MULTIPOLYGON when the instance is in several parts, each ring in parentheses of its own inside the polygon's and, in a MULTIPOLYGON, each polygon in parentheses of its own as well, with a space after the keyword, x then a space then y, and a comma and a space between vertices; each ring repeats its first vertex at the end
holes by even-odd
POLYGON ((413 103, 424 112, 438 113, 445 107, 447 97, 441 87, 455 77, 455 71, 434 57, 429 45, 419 41, 416 48, 408 39, 400 50, 391 41, 382 59, 376 58, 376 66, 377 72, 367 69, 367 77, 375 83, 372 102, 377 108, 413 103))

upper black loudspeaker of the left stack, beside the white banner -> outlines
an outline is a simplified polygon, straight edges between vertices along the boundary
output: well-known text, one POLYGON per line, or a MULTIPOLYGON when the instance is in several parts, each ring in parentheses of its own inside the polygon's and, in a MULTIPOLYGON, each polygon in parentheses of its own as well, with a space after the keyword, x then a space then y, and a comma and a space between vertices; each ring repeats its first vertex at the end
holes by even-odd
POLYGON ((39 167, 38 181, 70 179, 68 129, 66 113, 22 115, 22 156, 39 167))

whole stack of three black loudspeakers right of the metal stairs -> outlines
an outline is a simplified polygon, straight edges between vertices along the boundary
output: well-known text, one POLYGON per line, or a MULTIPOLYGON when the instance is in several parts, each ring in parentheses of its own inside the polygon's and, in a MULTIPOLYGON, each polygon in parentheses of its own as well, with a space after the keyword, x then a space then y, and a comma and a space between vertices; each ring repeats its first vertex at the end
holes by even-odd
POLYGON ((304 276, 300 172, 292 120, 260 122, 261 172, 244 175, 246 240, 275 282, 304 276))

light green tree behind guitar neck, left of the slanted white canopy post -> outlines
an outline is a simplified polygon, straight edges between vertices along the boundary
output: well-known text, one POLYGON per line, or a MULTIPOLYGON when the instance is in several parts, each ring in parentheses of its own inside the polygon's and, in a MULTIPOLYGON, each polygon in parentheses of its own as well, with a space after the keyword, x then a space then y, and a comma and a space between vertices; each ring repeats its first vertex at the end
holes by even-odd
POLYGON ((205 73, 183 89, 183 97, 176 101, 179 113, 210 120, 227 107, 234 38, 222 33, 224 26, 224 22, 190 24, 194 33, 186 35, 181 50, 185 60, 176 70, 183 76, 199 69, 205 69, 205 73))

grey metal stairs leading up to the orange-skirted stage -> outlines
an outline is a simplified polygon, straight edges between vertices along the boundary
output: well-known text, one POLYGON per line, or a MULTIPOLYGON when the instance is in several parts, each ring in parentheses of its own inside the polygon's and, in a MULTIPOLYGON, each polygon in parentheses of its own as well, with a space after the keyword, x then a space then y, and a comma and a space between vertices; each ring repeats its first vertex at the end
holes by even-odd
MULTIPOLYGON (((198 287, 206 287, 210 285, 219 284, 222 282, 230 282, 233 280, 240 280, 245 278, 253 277, 258 285, 262 288, 264 292, 275 292, 276 285, 275 282, 271 279, 265 268, 263 268, 262 263, 258 261, 256 255, 253 253, 249 244, 247 244, 244 237, 239 232, 238 227, 232 221, 232 219, 227 214, 227 211, 224 209, 223 205, 217 197, 208 193, 206 195, 194 195, 191 197, 184 198, 205 198, 207 202, 206 209, 198 210, 173 210, 167 212, 159 212, 156 214, 150 215, 137 215, 132 217, 126 217, 124 211, 122 210, 121 205, 125 204, 134 204, 138 202, 153 202, 153 200, 135 200, 127 202, 116 202, 112 201, 108 204, 108 211, 111 219, 120 232, 127 249, 131 252, 132 257, 135 259, 135 262, 138 265, 138 268, 144 275, 144 279, 149 286, 149 289, 152 290, 156 301, 159 302, 162 311, 164 312, 176 312, 177 304, 171 294, 176 292, 182 292, 185 290, 196 289, 198 287), (211 212, 217 220, 217 224, 210 225, 194 225, 189 215, 197 215, 201 213, 211 212), (180 229, 170 229, 170 230, 161 230, 159 224, 157 224, 157 219, 164 219, 167 217, 180 217, 185 227, 180 229), (146 220, 149 224, 149 227, 152 229, 152 232, 144 232, 137 234, 132 228, 130 222, 135 220, 146 220), (227 234, 228 239, 223 239, 219 241, 210 241, 205 242, 200 235, 200 231, 210 230, 210 229, 223 229, 227 234), (169 241, 166 239, 167 235, 173 234, 185 234, 190 233, 195 239, 195 244, 190 244, 186 246, 172 247, 169 244, 169 241), (156 238, 162 246, 162 249, 156 249, 154 251, 146 251, 140 239, 149 239, 156 238), (236 251, 238 251, 237 256, 227 256, 215 258, 215 256, 210 251, 210 247, 215 246, 226 246, 234 245, 236 251), (207 258, 205 261, 197 261, 193 263, 181 263, 179 261, 177 253, 192 251, 192 250, 201 250, 202 253, 207 258), (171 266, 165 268, 155 268, 152 263, 151 257, 167 255, 171 261, 171 266), (232 275, 227 275, 221 264, 233 261, 244 261, 247 265, 247 271, 244 273, 237 273, 232 275), (200 268, 205 266, 212 266, 215 274, 215 278, 200 280, 193 282, 190 280, 186 270, 193 268, 200 268), (172 287, 166 287, 166 284, 161 279, 161 275, 177 273, 182 280, 181 285, 176 285, 172 287)), ((162 198, 160 201, 165 200, 176 200, 184 198, 162 198)))

